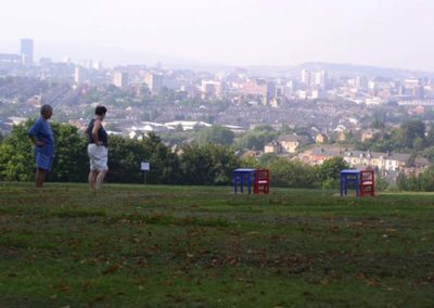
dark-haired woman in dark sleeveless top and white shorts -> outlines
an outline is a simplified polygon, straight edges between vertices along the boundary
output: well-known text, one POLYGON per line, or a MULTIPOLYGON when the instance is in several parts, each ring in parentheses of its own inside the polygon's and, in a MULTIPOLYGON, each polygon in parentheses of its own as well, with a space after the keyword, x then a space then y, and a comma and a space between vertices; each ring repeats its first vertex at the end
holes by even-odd
POLYGON ((106 107, 98 106, 95 108, 95 116, 89 123, 86 130, 89 136, 89 187, 92 191, 101 189, 104 177, 108 171, 108 138, 104 127, 102 126, 106 113, 106 107))

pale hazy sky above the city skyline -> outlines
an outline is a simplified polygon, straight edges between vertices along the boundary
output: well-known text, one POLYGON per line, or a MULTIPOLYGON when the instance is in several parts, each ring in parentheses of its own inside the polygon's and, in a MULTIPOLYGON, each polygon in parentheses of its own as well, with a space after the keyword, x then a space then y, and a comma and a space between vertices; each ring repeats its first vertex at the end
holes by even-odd
POLYGON ((0 52, 17 52, 20 38, 29 37, 37 57, 89 50, 104 59, 104 49, 122 49, 230 65, 324 61, 434 70, 433 0, 2 2, 0 52))

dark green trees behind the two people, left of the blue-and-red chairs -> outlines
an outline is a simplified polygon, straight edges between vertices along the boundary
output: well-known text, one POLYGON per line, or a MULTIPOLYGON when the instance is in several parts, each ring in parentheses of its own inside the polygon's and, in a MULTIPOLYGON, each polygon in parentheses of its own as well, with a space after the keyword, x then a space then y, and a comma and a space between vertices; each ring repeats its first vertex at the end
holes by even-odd
MULTIPOLYGON (((34 120, 14 126, 0 139, 0 180, 31 181, 34 150, 27 131, 34 120)), ((88 141, 67 124, 51 124, 56 144, 49 181, 86 182, 89 174, 88 141)), ((110 137, 107 182, 140 183, 142 162, 150 163, 146 181, 154 184, 229 184, 240 159, 227 146, 188 144, 174 152, 154 133, 142 140, 110 137)))

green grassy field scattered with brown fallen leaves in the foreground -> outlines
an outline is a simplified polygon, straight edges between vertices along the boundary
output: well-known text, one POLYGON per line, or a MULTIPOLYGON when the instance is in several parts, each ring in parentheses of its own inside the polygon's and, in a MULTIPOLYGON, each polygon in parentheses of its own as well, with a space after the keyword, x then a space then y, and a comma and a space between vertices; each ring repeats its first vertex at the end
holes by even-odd
POLYGON ((0 307, 434 307, 434 195, 0 183, 0 307))

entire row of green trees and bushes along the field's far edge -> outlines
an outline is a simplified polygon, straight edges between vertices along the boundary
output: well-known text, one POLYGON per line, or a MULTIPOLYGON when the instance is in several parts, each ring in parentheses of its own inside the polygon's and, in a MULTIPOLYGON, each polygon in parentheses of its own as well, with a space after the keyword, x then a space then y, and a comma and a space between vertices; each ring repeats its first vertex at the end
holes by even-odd
MULTIPOLYGON (((33 144, 27 130, 34 120, 14 126, 12 132, 0 139, 0 180, 31 181, 34 178, 33 144)), ((56 154, 49 181, 86 182, 89 172, 87 139, 68 124, 52 123, 56 154)), ((342 157, 333 157, 321 166, 309 166, 286 157, 264 155, 239 157, 229 145, 213 142, 189 143, 175 151, 155 133, 141 140, 110 137, 107 182, 141 183, 141 162, 151 169, 146 182, 152 184, 230 185, 233 169, 239 167, 267 168, 273 187, 337 189, 340 171, 348 168, 342 157)), ((401 176, 398 188, 404 190, 433 190, 434 171, 429 169, 417 178, 401 176), (420 179, 419 182, 417 179, 420 179), (421 184, 420 182, 423 182, 421 184), (418 184, 419 183, 419 184, 418 184)), ((379 178, 381 180, 381 178, 379 178)))

